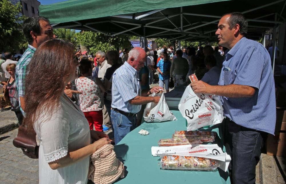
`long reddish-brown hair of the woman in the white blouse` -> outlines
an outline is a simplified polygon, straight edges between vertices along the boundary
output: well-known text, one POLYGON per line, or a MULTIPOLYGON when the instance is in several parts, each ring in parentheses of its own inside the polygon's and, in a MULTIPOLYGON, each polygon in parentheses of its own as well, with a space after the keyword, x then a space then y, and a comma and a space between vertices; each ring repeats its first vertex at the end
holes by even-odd
POLYGON ((68 41, 52 39, 43 42, 33 55, 25 78, 24 124, 32 127, 41 112, 51 115, 59 106, 63 90, 78 65, 76 48, 68 41))

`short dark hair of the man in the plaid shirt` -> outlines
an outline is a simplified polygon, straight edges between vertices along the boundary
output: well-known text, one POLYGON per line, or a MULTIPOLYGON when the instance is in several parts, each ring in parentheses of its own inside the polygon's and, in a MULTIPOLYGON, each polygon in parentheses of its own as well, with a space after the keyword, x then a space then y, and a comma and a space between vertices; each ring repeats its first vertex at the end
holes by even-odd
POLYGON ((33 43, 31 31, 41 34, 40 20, 50 22, 46 17, 34 16, 27 18, 23 23, 23 32, 29 44, 33 43))

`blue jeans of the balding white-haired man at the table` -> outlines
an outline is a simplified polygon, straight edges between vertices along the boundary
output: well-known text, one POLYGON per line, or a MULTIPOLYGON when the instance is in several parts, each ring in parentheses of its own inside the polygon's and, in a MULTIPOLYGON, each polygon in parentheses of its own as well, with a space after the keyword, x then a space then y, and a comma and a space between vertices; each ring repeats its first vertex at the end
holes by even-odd
POLYGON ((125 116, 111 109, 111 123, 114 128, 114 141, 117 144, 125 135, 136 128, 136 115, 125 116))

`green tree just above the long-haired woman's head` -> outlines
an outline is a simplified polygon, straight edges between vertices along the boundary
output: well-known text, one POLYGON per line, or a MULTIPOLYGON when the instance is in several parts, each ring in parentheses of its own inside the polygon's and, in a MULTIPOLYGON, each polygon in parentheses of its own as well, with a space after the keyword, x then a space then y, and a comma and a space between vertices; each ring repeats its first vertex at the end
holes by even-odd
POLYGON ((75 47, 77 47, 79 44, 77 39, 78 35, 74 29, 59 28, 54 29, 53 33, 57 36, 57 38, 70 41, 75 47))

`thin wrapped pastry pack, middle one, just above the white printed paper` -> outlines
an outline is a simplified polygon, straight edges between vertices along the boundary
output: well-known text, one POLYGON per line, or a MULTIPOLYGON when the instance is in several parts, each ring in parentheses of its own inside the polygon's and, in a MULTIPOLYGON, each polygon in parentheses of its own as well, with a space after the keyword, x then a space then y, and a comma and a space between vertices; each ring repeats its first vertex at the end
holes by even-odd
POLYGON ((159 146, 179 146, 179 145, 187 145, 187 144, 202 144, 202 141, 198 139, 160 139, 158 141, 159 146))

